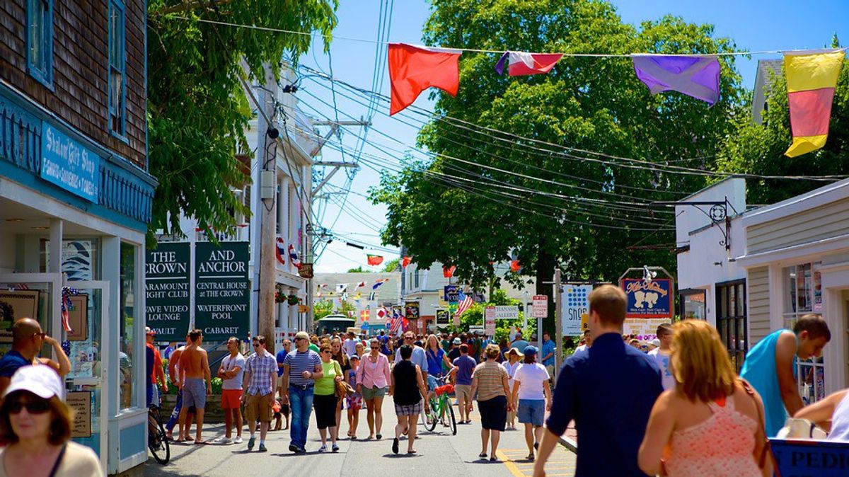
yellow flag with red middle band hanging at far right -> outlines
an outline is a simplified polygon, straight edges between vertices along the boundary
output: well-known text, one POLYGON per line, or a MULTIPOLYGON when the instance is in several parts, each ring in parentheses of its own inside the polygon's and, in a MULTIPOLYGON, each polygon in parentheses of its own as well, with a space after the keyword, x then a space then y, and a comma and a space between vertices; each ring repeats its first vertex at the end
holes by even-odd
POLYGON ((822 148, 829 137, 831 104, 840 75, 843 50, 784 53, 787 103, 793 143, 784 152, 796 157, 822 148))

